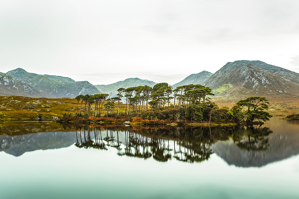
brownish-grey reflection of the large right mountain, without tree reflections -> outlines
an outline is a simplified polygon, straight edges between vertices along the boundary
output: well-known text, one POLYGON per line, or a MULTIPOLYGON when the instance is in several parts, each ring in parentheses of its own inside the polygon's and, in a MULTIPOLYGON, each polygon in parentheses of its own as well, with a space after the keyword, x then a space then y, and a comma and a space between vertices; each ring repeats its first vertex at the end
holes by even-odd
MULTIPOLYGON (((274 120, 272 120, 273 125, 274 120)), ((218 141, 212 146, 212 150, 229 165, 240 167, 265 166, 298 155, 298 125, 287 124, 288 121, 277 119, 276 122, 277 127, 271 128, 274 132, 267 136, 269 146, 266 150, 240 149, 233 141, 218 141)))

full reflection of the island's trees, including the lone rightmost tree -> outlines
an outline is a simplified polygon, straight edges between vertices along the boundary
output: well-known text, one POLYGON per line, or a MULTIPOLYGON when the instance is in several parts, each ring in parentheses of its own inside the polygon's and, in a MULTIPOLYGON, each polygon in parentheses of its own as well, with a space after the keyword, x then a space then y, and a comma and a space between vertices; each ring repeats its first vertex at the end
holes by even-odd
POLYGON ((211 145, 232 138, 236 146, 246 150, 266 150, 272 133, 267 127, 76 127, 75 146, 107 150, 117 155, 167 162, 172 158, 183 162, 202 162, 213 153, 211 145), (122 137, 119 137, 119 134, 122 137), (124 135, 124 136, 123 136, 124 135))

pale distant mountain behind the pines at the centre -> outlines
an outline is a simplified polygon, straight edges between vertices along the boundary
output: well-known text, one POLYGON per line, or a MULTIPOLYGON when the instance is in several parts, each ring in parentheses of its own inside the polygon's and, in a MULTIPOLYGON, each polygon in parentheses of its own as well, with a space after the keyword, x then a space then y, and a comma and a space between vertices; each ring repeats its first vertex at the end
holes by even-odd
POLYGON ((108 85, 95 85, 95 87, 101 92, 101 93, 108 93, 111 94, 111 97, 116 97, 118 94, 117 90, 119 88, 129 88, 129 87, 136 87, 136 86, 145 86, 148 85, 150 87, 153 87, 155 82, 149 81, 146 79, 139 79, 139 78, 128 78, 123 81, 118 81, 113 84, 108 85))

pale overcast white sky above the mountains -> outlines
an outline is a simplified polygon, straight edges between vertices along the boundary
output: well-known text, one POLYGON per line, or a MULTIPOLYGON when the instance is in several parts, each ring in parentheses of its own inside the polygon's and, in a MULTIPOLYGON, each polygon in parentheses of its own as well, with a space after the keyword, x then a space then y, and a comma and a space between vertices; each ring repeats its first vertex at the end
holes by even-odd
POLYGON ((299 72, 298 0, 0 1, 0 72, 175 84, 227 62, 299 72))

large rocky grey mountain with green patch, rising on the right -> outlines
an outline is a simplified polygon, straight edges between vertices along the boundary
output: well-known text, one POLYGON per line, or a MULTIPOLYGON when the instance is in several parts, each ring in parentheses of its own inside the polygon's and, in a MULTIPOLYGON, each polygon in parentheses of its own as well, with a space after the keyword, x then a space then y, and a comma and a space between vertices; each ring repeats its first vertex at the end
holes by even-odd
POLYGON ((299 74, 262 61, 228 62, 203 82, 215 95, 299 96, 299 74))

